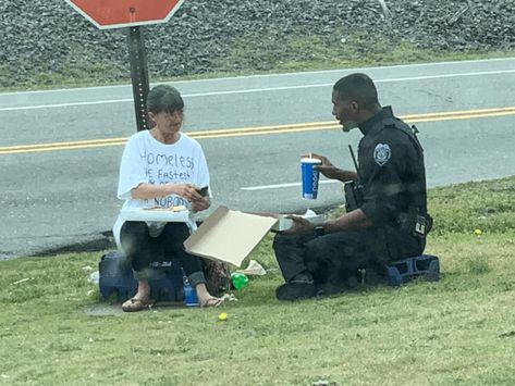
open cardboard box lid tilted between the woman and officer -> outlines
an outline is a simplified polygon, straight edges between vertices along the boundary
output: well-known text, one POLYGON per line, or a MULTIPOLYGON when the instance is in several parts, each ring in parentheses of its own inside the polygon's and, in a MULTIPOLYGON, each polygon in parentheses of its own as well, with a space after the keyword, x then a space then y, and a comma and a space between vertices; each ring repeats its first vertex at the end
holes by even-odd
POLYGON ((242 266, 278 219, 219 207, 193 233, 184 247, 188 253, 242 266))

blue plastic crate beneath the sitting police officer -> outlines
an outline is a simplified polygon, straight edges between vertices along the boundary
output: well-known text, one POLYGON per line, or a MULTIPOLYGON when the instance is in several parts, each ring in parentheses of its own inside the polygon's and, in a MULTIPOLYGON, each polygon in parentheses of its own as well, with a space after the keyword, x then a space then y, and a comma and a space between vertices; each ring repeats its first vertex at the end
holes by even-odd
POLYGON ((432 282, 440 278, 440 262, 438 257, 431 254, 420 254, 394 261, 388 263, 385 267, 388 283, 394 287, 408 283, 418 276, 432 282))

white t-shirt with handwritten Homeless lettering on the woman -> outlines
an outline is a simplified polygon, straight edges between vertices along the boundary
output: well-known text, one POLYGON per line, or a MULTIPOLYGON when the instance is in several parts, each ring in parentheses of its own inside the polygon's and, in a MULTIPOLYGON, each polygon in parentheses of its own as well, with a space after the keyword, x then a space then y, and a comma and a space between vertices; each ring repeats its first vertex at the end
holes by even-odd
MULTIPOLYGON (((120 165, 118 198, 125 200, 123 208, 189 208, 189 202, 176 195, 145 200, 131 197, 131 190, 139 184, 167 183, 209 186, 209 170, 200 144, 184 133, 181 133, 179 140, 172 145, 158 141, 149 130, 132 135, 125 145, 120 165)), ((119 248, 122 225, 123 221, 119 216, 113 226, 114 240, 119 248)))

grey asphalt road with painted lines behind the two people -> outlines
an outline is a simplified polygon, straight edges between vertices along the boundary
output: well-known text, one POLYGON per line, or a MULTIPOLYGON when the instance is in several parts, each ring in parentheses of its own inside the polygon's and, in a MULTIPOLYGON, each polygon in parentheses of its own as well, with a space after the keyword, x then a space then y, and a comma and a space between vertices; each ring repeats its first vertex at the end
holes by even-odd
MULTIPOLYGON (((213 206, 302 212, 342 202, 340 184, 301 199, 298 154, 352 167, 331 87, 359 71, 416 123, 429 186, 515 174, 515 58, 176 82, 184 130, 203 145, 213 206)), ((118 167, 136 130, 131 86, 0 94, 0 259, 98 247, 122 204, 118 167)), ((209 212, 208 212, 209 213, 209 212)), ((206 213, 207 214, 207 213, 206 213)), ((101 244, 100 244, 101 245, 101 244)))

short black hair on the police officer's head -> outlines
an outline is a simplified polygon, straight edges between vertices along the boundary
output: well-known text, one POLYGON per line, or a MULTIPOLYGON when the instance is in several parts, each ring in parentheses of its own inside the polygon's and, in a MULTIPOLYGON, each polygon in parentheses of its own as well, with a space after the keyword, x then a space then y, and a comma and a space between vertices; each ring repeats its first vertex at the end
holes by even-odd
POLYGON ((366 74, 344 76, 334 84, 333 90, 340 100, 351 99, 366 109, 379 103, 376 85, 366 74))

